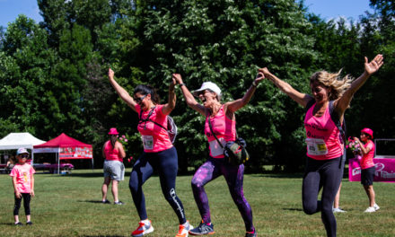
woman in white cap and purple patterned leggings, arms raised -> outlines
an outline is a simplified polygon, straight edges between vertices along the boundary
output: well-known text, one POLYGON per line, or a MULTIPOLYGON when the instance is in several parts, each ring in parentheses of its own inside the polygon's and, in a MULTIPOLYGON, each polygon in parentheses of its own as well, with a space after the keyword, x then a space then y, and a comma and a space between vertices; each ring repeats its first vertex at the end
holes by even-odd
POLYGON ((215 233, 214 225, 211 223, 210 209, 204 186, 209 181, 224 175, 233 201, 244 220, 247 232, 245 236, 257 236, 255 227, 252 224, 251 207, 246 198, 244 198, 242 189, 244 165, 233 165, 225 161, 224 149, 222 147, 226 142, 236 139, 236 119, 234 113, 250 101, 258 83, 264 78, 263 75, 259 75, 253 81, 250 89, 241 99, 228 101, 224 104, 221 103, 221 89, 215 83, 203 83, 200 89, 192 94, 189 92, 185 83, 182 82, 181 75, 175 74, 173 78, 180 84, 181 91, 188 106, 206 117, 205 134, 210 149, 210 155, 207 161, 198 168, 198 171, 195 172, 192 178, 193 195, 198 205, 202 221, 197 228, 190 230, 189 233, 191 235, 215 233), (198 97, 202 101, 202 104, 199 104, 194 96, 198 97), (212 128, 210 128, 210 123, 212 128), (215 134, 214 136, 212 130, 215 134), (219 142, 222 145, 219 145, 219 142))

